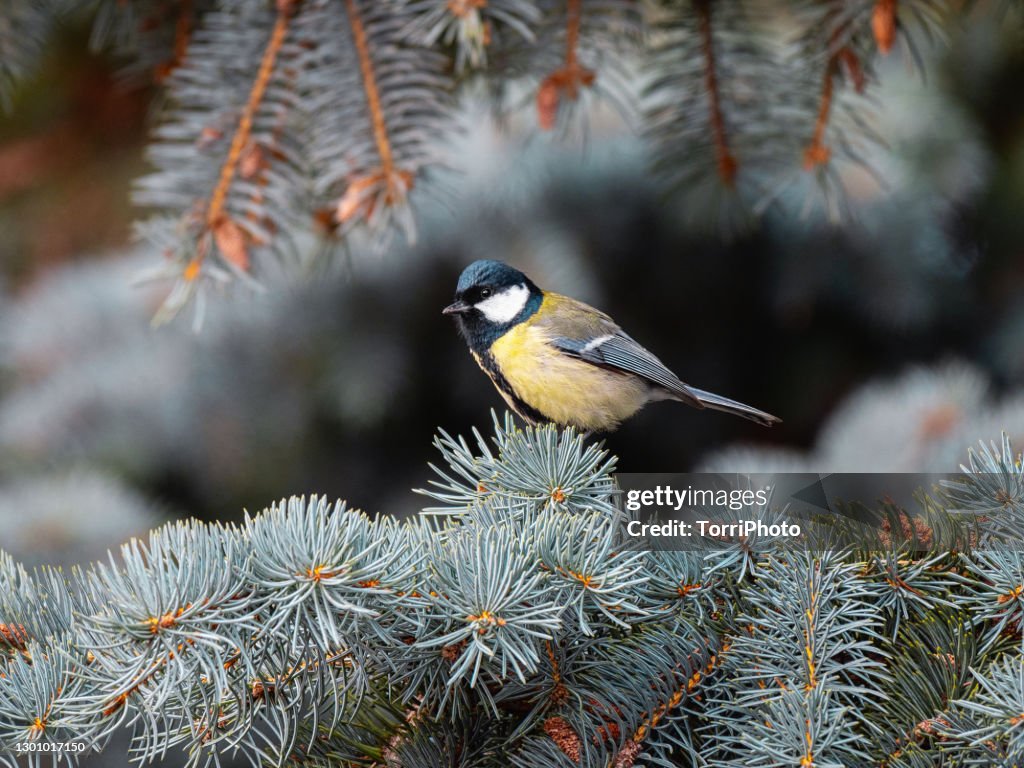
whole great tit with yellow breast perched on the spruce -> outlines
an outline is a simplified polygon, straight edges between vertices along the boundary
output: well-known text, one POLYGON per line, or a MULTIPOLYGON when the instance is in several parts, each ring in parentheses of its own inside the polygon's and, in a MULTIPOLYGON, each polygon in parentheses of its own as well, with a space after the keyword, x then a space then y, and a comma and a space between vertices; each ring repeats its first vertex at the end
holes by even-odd
POLYGON ((542 291, 501 261, 467 266, 443 312, 455 316, 509 407, 534 424, 608 432, 653 400, 724 411, 765 426, 781 421, 684 384, 604 312, 542 291))

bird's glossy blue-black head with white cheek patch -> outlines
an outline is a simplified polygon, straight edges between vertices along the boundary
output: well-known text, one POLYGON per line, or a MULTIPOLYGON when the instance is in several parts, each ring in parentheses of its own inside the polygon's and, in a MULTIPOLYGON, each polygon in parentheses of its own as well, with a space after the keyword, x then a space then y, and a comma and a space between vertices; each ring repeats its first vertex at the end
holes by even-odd
POLYGON ((518 269, 501 261, 474 261, 459 278, 455 301, 444 307, 471 345, 487 346, 541 306, 544 293, 518 269))

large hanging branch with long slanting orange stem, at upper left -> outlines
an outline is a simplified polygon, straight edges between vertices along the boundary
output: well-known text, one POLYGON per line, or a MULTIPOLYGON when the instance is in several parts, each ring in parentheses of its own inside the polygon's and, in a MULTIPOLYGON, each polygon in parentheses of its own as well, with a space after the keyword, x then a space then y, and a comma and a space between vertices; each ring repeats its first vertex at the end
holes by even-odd
MULTIPOLYGON (((308 16, 315 16, 315 7, 299 7, 279 0, 273 11, 239 4, 207 12, 168 77, 172 110, 150 151, 159 170, 139 180, 135 196, 178 212, 140 227, 169 256, 156 276, 175 280, 157 322, 197 295, 201 279, 250 273, 253 248, 280 250, 275 232, 294 228, 286 225, 304 195, 296 77, 309 56, 308 16), (247 83, 244 92, 239 82, 247 83)), ((188 27, 183 18, 179 32, 188 27)))

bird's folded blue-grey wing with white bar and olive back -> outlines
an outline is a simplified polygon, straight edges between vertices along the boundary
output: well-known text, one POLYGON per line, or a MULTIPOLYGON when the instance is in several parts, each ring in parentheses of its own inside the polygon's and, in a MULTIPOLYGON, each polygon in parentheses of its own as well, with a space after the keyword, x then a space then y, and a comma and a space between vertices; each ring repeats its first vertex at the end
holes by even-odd
POLYGON ((549 294, 545 303, 548 301, 553 304, 552 311, 542 310, 537 324, 549 334, 553 346, 594 366, 640 376, 684 402, 703 408, 678 376, 604 312, 565 296, 549 294))

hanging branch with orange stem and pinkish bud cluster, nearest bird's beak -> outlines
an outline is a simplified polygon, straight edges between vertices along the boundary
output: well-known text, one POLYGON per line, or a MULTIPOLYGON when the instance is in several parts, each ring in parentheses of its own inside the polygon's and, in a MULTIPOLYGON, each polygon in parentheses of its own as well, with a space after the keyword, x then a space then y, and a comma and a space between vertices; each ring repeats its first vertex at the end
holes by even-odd
POLYGON ((394 230, 415 239, 410 193, 428 168, 442 165, 436 139, 454 125, 446 61, 409 44, 398 7, 369 0, 325 6, 305 81, 317 209, 329 211, 318 218, 345 232, 361 225, 376 249, 394 230), (347 41, 340 39, 350 44, 339 45, 346 30, 347 41))

